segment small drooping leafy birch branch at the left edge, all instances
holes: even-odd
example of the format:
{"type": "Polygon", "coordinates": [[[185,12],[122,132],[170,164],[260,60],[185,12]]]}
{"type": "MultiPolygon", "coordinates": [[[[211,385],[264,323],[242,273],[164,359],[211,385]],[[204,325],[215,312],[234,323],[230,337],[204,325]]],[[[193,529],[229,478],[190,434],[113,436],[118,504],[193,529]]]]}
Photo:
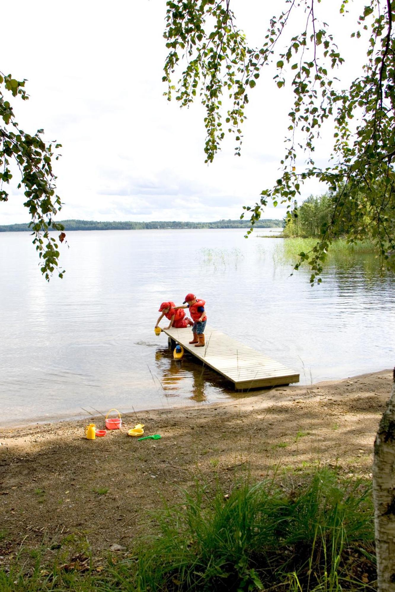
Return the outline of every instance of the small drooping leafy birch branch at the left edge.
{"type": "MultiPolygon", "coordinates": [[[[60,230],[59,240],[65,239],[62,224],[53,220],[62,204],[55,194],[55,175],[52,170],[54,156],[52,144],[42,140],[43,130],[37,130],[34,136],[23,131],[15,121],[14,111],[5,96],[9,93],[13,97],[19,96],[23,101],[28,99],[25,82],[5,76],[0,72],[0,201],[8,201],[9,182],[12,179],[12,165],[20,173],[18,189],[24,187],[26,201],[33,232],[33,244],[40,257],[40,268],[44,277],[49,280],[50,275],[58,267],[59,246],[50,230],[60,230]]],[[[56,144],[55,150],[61,144],[56,144]]],[[[59,156],[55,156],[58,160],[59,156]]],[[[63,271],[59,271],[62,277],[63,271]]]]}

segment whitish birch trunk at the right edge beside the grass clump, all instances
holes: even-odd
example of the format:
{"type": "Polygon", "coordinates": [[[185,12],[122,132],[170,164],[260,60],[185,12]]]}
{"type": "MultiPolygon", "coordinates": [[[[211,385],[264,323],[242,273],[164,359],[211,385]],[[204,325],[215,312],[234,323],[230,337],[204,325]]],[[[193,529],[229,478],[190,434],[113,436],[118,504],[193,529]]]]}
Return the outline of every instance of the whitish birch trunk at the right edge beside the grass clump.
{"type": "Polygon", "coordinates": [[[395,368],[388,407],[374,442],[374,527],[379,592],[395,591],[395,368]]]}

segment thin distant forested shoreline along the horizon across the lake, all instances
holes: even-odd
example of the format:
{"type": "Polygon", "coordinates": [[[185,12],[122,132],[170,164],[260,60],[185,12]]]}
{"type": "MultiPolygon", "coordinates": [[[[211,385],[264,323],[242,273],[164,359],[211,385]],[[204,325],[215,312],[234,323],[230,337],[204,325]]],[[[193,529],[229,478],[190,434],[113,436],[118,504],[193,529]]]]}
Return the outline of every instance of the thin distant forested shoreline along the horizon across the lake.
{"type": "MultiPolygon", "coordinates": [[[[94,220],[61,220],[65,230],[152,230],[196,228],[250,228],[247,220],[217,220],[216,222],[96,222],[94,220]]],[[[282,228],[282,220],[259,220],[255,228],[282,228]]],[[[28,224],[0,225],[0,232],[21,232],[31,229],[28,224]]]]}

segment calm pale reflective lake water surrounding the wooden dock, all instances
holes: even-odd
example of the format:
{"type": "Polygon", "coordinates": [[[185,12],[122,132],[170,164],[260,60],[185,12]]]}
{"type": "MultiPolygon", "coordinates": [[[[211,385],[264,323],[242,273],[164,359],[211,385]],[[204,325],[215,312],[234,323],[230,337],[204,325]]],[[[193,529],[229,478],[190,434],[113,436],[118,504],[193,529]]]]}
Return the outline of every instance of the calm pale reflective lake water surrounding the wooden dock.
{"type": "Polygon", "coordinates": [[[187,292],[206,300],[211,326],[300,372],[301,384],[394,365],[394,276],[380,278],[372,257],[330,265],[311,288],[308,269],[290,276],[283,239],[243,230],[67,239],[66,274],[48,284],[31,236],[0,233],[2,425],[246,396],[189,356],[174,361],[155,336],[160,303],[187,292]]]}

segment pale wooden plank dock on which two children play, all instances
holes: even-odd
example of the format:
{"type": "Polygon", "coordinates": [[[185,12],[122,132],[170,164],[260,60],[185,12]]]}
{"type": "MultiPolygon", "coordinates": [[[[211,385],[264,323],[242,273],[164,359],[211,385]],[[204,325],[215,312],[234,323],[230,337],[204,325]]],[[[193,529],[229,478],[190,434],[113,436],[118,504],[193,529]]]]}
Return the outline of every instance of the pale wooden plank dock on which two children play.
{"type": "Polygon", "coordinates": [[[190,328],[171,327],[163,332],[169,337],[172,348],[179,343],[203,364],[232,382],[236,390],[299,382],[299,374],[293,370],[211,327],[206,326],[204,348],[189,345],[192,340],[190,328]]]}

